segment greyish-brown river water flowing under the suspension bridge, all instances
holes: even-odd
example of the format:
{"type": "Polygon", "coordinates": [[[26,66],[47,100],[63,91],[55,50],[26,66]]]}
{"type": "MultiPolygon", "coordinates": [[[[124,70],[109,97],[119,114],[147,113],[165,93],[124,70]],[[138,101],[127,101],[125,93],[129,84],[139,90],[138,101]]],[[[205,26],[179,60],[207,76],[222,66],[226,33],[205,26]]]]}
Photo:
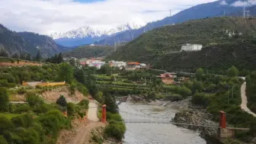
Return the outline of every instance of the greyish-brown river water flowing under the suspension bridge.
{"type": "Polygon", "coordinates": [[[170,107],[122,103],[119,108],[126,122],[163,122],[126,123],[126,133],[123,139],[125,144],[206,144],[199,133],[165,123],[170,121],[176,112],[170,107]],[[165,117],[165,119],[160,117],[165,117]]]}

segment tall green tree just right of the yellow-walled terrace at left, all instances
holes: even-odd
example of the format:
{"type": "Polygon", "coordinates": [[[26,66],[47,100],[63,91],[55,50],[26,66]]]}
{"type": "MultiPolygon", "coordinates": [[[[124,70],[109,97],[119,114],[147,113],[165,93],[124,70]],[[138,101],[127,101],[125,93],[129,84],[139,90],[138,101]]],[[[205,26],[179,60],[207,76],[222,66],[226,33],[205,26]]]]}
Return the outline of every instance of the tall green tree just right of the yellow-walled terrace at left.
{"type": "Polygon", "coordinates": [[[74,70],[69,63],[61,63],[59,69],[59,80],[71,83],[73,80],[74,70]]]}

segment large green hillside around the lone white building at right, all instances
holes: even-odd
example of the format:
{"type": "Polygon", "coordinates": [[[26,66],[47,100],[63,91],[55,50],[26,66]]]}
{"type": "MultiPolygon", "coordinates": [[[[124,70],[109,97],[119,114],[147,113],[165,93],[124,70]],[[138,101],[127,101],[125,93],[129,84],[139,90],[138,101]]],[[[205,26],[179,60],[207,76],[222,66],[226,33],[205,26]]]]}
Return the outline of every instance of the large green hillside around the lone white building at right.
{"type": "MultiPolygon", "coordinates": [[[[254,52],[255,32],[256,20],[251,18],[225,17],[187,21],[183,24],[169,25],[146,32],[136,40],[127,43],[126,46],[122,46],[110,56],[110,59],[136,60],[150,62],[156,68],[181,67],[181,69],[182,67],[194,67],[202,60],[206,61],[205,65],[208,65],[209,60],[213,61],[212,58],[218,59],[219,62],[238,60],[236,57],[240,54],[244,55],[241,59],[245,57],[253,59],[251,52],[254,52]],[[232,33],[234,31],[235,35],[229,37],[226,30],[232,33]],[[242,36],[238,36],[238,33],[242,33],[242,36]],[[181,50],[184,43],[201,43],[204,48],[207,48],[194,53],[170,53],[181,50]],[[216,47],[218,50],[215,49],[216,47]],[[245,47],[246,50],[243,50],[245,47]],[[233,51],[237,53],[232,53],[233,51]],[[219,54],[223,56],[219,57],[219,54]],[[226,54],[230,56],[226,57],[226,54]],[[187,62],[186,66],[183,65],[184,62],[187,62]]],[[[244,66],[244,62],[248,59],[245,59],[239,66],[244,66]]],[[[254,67],[250,69],[252,68],[254,67]]]]}

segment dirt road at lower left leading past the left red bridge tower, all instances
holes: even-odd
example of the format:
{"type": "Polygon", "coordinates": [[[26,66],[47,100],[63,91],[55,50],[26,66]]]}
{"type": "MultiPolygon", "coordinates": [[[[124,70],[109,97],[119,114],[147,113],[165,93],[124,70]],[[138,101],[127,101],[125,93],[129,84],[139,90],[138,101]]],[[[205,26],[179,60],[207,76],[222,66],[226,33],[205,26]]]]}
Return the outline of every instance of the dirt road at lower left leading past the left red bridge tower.
{"type": "Polygon", "coordinates": [[[72,140],[72,142],[70,142],[70,144],[90,143],[89,140],[91,139],[91,130],[104,126],[104,123],[99,122],[97,112],[98,104],[90,101],[88,110],[88,119],[90,120],[90,123],[78,130],[75,138],[72,140]]]}

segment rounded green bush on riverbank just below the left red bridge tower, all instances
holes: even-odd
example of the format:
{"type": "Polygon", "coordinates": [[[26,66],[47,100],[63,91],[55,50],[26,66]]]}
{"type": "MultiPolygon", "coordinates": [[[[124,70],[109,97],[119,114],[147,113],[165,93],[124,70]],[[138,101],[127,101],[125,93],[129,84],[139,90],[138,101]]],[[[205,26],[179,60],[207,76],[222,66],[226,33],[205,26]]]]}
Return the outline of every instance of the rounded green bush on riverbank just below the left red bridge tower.
{"type": "Polygon", "coordinates": [[[124,133],[126,131],[126,126],[123,122],[117,122],[115,120],[110,120],[109,124],[104,129],[104,133],[108,137],[112,137],[117,140],[122,140],[124,133]]]}

